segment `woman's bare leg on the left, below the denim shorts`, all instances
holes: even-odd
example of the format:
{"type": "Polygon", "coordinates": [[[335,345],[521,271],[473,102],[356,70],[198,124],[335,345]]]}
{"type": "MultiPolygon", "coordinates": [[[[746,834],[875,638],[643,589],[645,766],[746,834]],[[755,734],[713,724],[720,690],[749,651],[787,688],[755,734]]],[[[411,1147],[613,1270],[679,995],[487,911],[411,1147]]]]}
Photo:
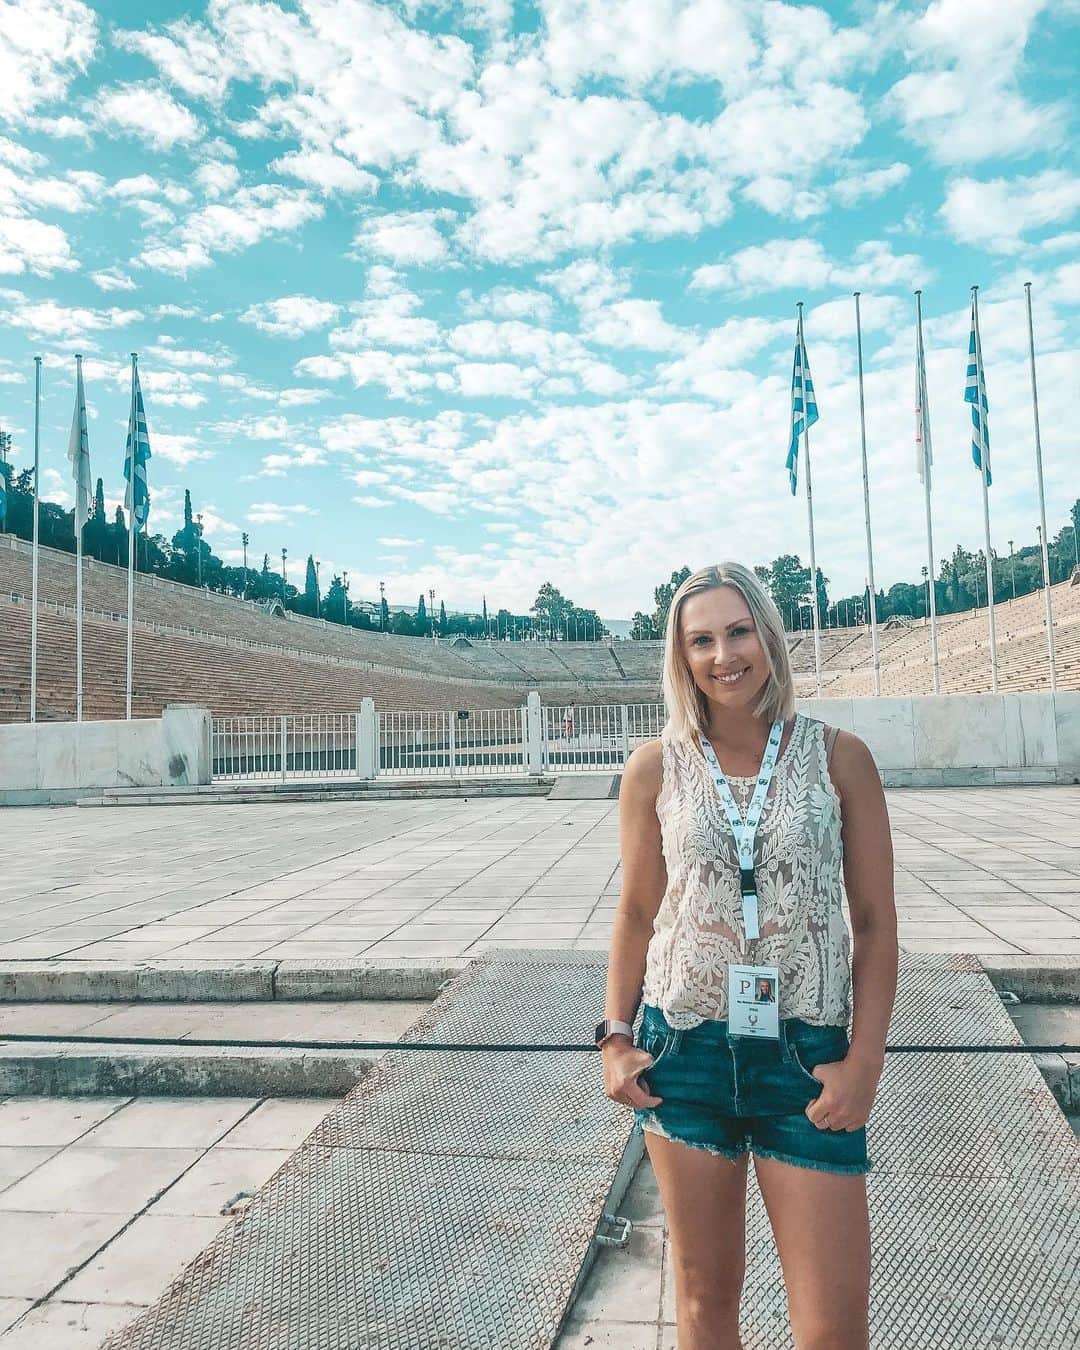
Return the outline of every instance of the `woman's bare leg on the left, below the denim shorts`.
{"type": "Polygon", "coordinates": [[[747,1160],[645,1130],[667,1214],[679,1350],[742,1350],[738,1300],[747,1268],[747,1160]]]}

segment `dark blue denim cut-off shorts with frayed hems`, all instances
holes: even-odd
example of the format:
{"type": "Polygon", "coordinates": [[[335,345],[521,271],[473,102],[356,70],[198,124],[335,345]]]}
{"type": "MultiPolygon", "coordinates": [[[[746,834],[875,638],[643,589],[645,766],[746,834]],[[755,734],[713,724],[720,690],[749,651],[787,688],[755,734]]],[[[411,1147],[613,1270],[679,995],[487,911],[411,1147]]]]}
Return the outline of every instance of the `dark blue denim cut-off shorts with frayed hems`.
{"type": "Polygon", "coordinates": [[[819,1172],[869,1172],[867,1129],[818,1129],[806,1107],[824,1084],[810,1069],[848,1053],[844,1026],[780,1019],[780,1040],[728,1035],[706,1021],[675,1030],[645,1004],[634,1042],[653,1057],[641,1071],[657,1107],[634,1108],[637,1126],[709,1153],[737,1158],[753,1149],[819,1172]]]}

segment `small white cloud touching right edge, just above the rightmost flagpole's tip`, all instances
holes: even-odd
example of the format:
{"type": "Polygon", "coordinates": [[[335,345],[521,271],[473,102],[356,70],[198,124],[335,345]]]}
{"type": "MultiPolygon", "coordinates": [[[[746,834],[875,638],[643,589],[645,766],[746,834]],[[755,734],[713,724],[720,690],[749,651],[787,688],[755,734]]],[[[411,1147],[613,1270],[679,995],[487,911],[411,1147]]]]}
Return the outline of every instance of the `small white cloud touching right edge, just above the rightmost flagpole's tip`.
{"type": "Polygon", "coordinates": [[[1015,252],[1029,230],[1058,224],[1080,211],[1080,177],[1046,169],[1029,178],[956,178],[941,207],[949,232],[961,243],[1015,252]]]}

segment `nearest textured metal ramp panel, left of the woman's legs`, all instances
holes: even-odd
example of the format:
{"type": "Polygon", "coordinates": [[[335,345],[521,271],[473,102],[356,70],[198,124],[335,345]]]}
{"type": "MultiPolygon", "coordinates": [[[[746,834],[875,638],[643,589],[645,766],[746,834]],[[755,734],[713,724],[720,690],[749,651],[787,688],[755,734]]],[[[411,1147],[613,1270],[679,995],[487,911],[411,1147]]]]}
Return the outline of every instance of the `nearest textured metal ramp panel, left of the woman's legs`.
{"type": "Polygon", "coordinates": [[[112,1350],[551,1346],[612,1183],[606,1161],[293,1161],[112,1350]]]}

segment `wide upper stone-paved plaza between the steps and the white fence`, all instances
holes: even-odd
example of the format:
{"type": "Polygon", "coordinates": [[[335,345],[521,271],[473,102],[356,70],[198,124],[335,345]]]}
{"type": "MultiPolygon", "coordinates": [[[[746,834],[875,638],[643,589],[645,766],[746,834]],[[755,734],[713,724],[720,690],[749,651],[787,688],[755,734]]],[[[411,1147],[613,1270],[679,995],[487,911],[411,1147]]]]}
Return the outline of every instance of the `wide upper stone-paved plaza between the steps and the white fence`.
{"type": "MultiPolygon", "coordinates": [[[[1080,954],[1075,787],[888,792],[909,950],[1080,954]]],[[[616,802],[474,798],[3,813],[0,960],[606,949],[616,802]]]]}

